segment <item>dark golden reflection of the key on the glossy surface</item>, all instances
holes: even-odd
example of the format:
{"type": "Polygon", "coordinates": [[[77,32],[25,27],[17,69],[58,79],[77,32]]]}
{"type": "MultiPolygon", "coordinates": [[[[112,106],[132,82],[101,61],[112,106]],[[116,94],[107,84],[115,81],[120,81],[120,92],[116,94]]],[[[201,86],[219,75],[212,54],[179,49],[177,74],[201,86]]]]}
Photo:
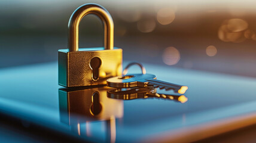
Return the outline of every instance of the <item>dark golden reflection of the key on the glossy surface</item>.
{"type": "Polygon", "coordinates": [[[175,100],[181,103],[187,102],[184,95],[157,94],[156,88],[148,86],[146,88],[117,88],[107,92],[108,98],[119,100],[135,100],[138,98],[163,98],[167,100],[175,100]]]}

